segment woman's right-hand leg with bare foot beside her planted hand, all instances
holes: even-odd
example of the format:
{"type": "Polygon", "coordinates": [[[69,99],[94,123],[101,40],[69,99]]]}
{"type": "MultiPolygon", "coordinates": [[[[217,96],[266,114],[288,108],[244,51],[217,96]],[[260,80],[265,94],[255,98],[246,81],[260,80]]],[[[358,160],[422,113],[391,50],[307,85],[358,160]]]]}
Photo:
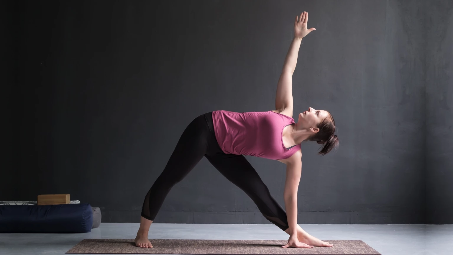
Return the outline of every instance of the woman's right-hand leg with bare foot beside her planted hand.
{"type": "MultiPolygon", "coordinates": [[[[217,153],[205,155],[205,157],[226,179],[250,196],[267,220],[289,234],[286,211],[270,195],[268,187],[243,155],[217,153]]],[[[297,235],[298,240],[307,245],[332,246],[328,242],[309,235],[299,225],[297,235]]]]}

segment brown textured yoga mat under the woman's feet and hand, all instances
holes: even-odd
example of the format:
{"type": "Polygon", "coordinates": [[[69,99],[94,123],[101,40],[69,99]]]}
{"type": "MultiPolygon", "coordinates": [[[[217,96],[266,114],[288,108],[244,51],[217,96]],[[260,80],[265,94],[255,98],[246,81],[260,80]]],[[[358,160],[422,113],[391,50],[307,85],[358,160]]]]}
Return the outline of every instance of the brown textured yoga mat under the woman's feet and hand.
{"type": "Polygon", "coordinates": [[[324,240],[332,247],[282,248],[288,240],[150,239],[153,248],[133,239],[84,239],[66,253],[85,254],[329,254],[381,255],[362,240],[324,240]]]}

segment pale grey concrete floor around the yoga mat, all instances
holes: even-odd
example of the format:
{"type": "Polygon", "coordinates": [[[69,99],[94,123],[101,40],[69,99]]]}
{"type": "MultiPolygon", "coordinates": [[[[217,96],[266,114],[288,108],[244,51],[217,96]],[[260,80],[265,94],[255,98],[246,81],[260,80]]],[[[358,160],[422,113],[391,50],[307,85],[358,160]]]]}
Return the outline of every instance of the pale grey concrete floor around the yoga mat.
{"type": "MultiPolygon", "coordinates": [[[[321,240],[363,240],[382,255],[453,255],[453,225],[300,226],[321,240]]],[[[134,239],[138,223],[102,223],[83,234],[1,234],[1,255],[63,255],[85,238],[134,239]]],[[[271,224],[159,224],[149,239],[281,239],[288,234],[271,224]]],[[[283,249],[283,248],[282,248],[283,249]]]]}

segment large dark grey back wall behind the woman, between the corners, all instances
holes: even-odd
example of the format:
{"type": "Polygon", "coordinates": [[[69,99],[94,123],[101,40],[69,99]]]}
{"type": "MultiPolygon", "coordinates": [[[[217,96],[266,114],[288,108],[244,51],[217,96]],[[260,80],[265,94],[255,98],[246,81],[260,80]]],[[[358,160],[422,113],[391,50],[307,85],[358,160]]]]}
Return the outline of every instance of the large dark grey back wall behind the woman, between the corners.
{"type": "MultiPolygon", "coordinates": [[[[138,222],[193,118],[274,109],[294,17],[307,10],[317,30],[299,51],[294,113],[330,111],[341,145],[325,157],[303,145],[298,223],[424,223],[422,3],[26,2],[15,199],[70,193],[101,207],[104,222],[138,222]]],[[[284,205],[285,165],[247,159],[284,205]]],[[[155,222],[269,223],[204,158],[155,222]]]]}

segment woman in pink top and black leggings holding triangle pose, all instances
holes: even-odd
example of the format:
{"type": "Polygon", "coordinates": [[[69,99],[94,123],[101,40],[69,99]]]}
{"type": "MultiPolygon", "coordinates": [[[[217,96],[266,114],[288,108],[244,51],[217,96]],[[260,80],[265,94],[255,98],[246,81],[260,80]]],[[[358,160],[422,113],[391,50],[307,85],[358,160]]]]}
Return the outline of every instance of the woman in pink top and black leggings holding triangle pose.
{"type": "Polygon", "coordinates": [[[292,118],[292,76],[300,43],[305,35],[315,30],[307,29],[307,21],[307,12],[294,20],[294,39],[278,81],[275,110],[247,113],[213,111],[198,116],[186,127],[164,171],[145,196],[135,245],[153,247],[148,240],[148,231],[165,197],[203,156],[246,192],[270,222],[289,234],[288,243],[283,248],[333,245],[309,235],[297,224],[297,190],[302,171],[300,143],[308,140],[323,144],[318,152],[322,155],[338,146],[338,138],[334,135],[335,122],[329,112],[308,108],[299,113],[297,123],[292,118]],[[286,212],[270,195],[244,155],[275,159],[286,164],[286,212]]]}

